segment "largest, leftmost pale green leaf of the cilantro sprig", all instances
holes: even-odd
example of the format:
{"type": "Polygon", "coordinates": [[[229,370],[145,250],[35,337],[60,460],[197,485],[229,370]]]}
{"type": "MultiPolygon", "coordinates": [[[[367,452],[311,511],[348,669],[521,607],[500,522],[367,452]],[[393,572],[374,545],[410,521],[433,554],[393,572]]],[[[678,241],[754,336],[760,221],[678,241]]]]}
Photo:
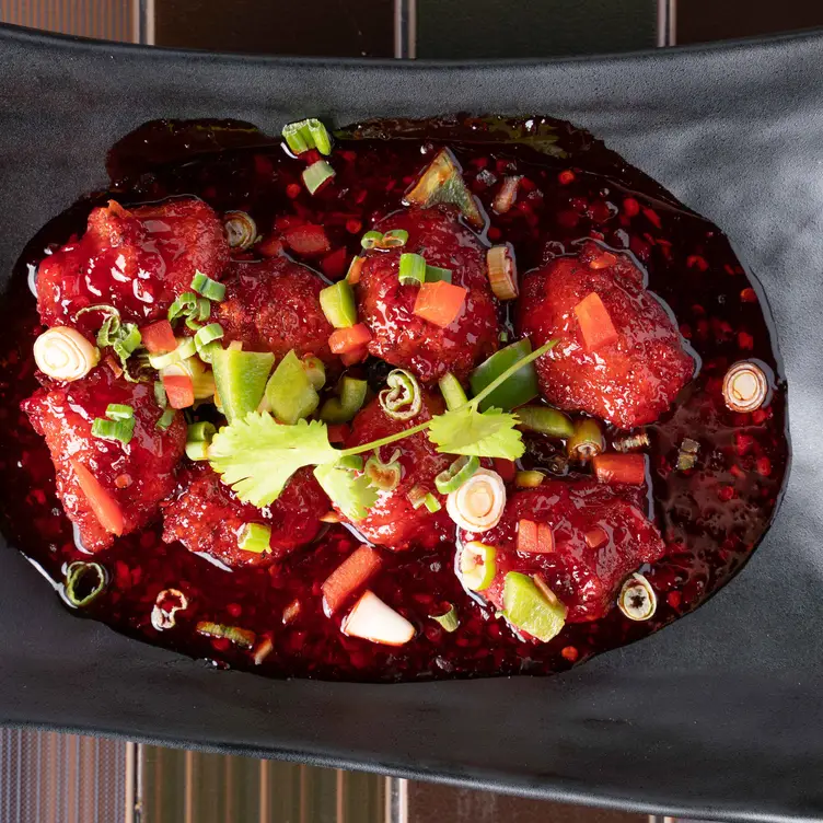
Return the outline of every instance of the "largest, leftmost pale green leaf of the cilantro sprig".
{"type": "Polygon", "coordinates": [[[325,424],[280,426],[258,412],[223,426],[209,447],[211,467],[241,500],[257,508],[277,500],[298,468],[335,460],[336,454],[325,424]]]}

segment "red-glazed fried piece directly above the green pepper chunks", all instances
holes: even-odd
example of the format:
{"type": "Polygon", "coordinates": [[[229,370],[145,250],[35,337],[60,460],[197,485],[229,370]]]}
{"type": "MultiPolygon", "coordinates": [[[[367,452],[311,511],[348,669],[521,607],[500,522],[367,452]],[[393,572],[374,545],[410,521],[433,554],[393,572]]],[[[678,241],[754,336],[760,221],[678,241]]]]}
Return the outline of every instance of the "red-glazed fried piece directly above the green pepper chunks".
{"type": "Polygon", "coordinates": [[[225,281],[225,300],[217,309],[224,340],[240,340],[252,351],[274,351],[279,360],[291,349],[337,363],[328,348],[334,328],[320,308],[326,283],[288,257],[234,263],[225,281]]]}

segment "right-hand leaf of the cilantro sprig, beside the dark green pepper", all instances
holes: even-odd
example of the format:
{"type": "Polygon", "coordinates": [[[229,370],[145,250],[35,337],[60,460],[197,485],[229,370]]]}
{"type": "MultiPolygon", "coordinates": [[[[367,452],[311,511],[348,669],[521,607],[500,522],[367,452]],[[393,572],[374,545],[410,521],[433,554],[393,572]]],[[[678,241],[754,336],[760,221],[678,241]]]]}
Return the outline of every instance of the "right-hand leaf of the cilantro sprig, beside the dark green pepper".
{"type": "Polygon", "coordinates": [[[517,425],[517,415],[499,408],[480,414],[468,404],[432,418],[429,440],[447,454],[517,460],[525,451],[517,425]]]}

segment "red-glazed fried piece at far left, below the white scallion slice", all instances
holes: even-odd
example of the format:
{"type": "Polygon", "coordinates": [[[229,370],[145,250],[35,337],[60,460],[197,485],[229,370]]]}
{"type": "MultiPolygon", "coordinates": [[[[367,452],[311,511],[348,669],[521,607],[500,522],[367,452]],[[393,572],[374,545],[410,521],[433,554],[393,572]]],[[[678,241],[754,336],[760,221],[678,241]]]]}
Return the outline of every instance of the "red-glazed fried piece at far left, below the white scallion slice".
{"type": "Polygon", "coordinates": [[[102,367],[74,383],[37,390],[23,410],[46,439],[57,472],[57,496],[89,552],[108,548],[115,536],[93,513],[70,461],[85,466],[117,502],[124,534],[155,519],[160,501],[175,485],[186,424],[176,415],[166,431],[155,428],[161,409],[151,383],[127,383],[102,367]],[[105,417],[109,403],[135,409],[135,433],[128,444],[92,437],[94,418],[105,417]]]}

